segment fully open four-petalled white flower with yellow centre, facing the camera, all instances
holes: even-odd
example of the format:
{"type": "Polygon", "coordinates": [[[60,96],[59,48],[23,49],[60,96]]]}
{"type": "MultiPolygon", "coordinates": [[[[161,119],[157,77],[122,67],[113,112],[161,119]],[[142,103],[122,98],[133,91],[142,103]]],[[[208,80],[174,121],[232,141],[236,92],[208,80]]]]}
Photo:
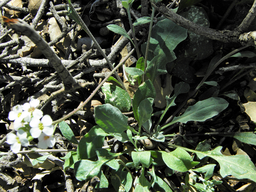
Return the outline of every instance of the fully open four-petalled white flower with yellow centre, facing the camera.
{"type": "Polygon", "coordinates": [[[30,123],[30,134],[33,138],[38,138],[42,132],[47,136],[51,136],[54,132],[54,128],[52,126],[52,118],[50,115],[45,115],[41,120],[38,118],[32,118],[30,123]]]}

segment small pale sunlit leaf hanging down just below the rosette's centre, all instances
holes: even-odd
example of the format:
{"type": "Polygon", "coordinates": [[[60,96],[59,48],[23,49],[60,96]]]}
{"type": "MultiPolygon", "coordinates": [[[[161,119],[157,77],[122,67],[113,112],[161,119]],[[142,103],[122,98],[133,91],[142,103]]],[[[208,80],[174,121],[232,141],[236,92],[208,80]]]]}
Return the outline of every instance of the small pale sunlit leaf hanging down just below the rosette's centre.
{"type": "Polygon", "coordinates": [[[149,168],[152,164],[152,158],[150,158],[150,151],[140,151],[140,152],[132,152],[132,160],[134,162],[134,166],[138,168],[140,164],[149,168]]]}

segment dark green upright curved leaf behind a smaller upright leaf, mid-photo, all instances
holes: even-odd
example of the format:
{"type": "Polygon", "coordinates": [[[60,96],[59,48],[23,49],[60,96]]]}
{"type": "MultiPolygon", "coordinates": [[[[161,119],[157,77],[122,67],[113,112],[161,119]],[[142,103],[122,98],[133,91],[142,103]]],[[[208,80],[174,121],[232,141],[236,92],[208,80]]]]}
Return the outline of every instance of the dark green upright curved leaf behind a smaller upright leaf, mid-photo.
{"type": "MultiPolygon", "coordinates": [[[[156,98],[156,90],[150,80],[143,82],[137,89],[132,100],[134,118],[139,122],[138,107],[140,102],[146,98],[156,98]]],[[[140,122],[139,122],[140,123],[140,122]]]]}

